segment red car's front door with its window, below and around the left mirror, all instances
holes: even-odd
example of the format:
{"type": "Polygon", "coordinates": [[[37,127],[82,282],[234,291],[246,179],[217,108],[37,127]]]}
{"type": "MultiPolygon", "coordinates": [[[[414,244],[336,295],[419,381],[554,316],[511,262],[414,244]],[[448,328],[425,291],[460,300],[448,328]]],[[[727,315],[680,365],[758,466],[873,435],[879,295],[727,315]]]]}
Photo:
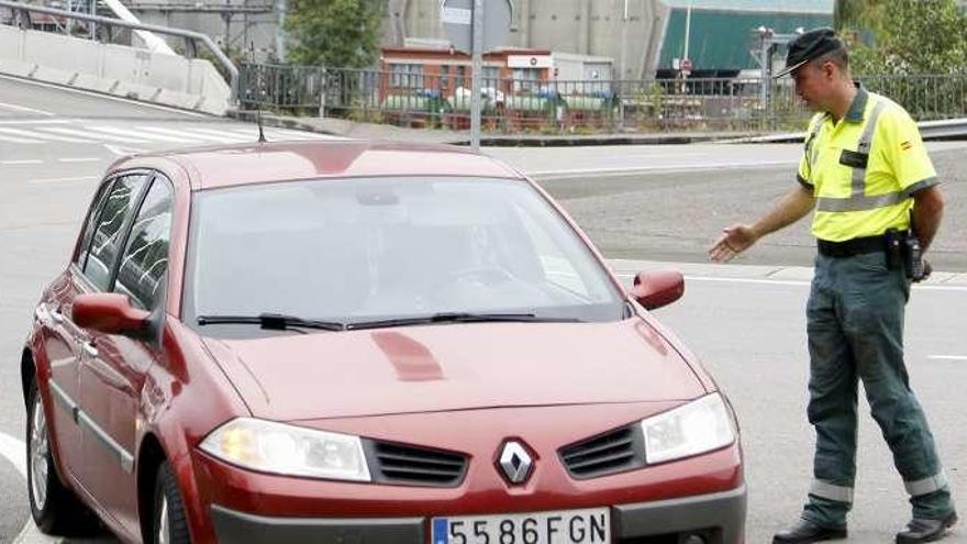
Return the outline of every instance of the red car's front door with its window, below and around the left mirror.
{"type": "MultiPolygon", "coordinates": [[[[109,289],[126,295],[132,307],[148,312],[163,310],[173,201],[170,184],[155,176],[127,232],[118,240],[123,251],[112,268],[109,289]]],[[[152,340],[88,334],[81,355],[81,408],[96,440],[85,442],[85,481],[111,517],[137,534],[133,469],[141,395],[162,351],[152,340]]]]}

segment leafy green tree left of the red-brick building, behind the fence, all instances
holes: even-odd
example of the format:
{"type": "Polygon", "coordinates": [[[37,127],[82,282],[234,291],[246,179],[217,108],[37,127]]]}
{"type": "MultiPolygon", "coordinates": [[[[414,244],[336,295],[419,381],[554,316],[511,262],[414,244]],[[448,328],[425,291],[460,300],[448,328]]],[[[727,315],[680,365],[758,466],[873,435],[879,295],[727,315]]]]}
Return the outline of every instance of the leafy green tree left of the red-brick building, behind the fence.
{"type": "Polygon", "coordinates": [[[289,60],[333,68],[367,68],[379,52],[380,0],[294,0],[286,19],[289,60]]]}

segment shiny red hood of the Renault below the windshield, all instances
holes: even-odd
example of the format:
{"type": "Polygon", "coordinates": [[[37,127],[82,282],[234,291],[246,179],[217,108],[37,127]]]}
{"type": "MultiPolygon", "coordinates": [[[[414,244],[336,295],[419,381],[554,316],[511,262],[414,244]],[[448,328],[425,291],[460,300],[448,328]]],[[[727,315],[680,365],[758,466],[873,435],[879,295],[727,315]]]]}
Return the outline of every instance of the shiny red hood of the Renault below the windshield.
{"type": "Polygon", "coordinates": [[[254,417],[277,421],[692,399],[648,323],[464,323],[203,338],[254,417]]]}

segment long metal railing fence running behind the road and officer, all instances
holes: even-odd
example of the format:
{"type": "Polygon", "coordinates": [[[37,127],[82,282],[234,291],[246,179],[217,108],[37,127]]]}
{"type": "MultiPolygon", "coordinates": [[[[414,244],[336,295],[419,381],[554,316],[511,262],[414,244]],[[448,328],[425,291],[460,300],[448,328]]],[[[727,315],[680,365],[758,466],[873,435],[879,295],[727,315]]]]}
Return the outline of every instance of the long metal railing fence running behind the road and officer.
{"type": "MultiPolygon", "coordinates": [[[[967,77],[863,78],[919,120],[965,116],[967,77]]],[[[338,116],[404,126],[465,130],[470,78],[463,74],[326,69],[246,64],[243,108],[338,116]]],[[[801,130],[807,111],[791,80],[652,79],[482,84],[482,125],[491,133],[771,132],[801,130]]]]}

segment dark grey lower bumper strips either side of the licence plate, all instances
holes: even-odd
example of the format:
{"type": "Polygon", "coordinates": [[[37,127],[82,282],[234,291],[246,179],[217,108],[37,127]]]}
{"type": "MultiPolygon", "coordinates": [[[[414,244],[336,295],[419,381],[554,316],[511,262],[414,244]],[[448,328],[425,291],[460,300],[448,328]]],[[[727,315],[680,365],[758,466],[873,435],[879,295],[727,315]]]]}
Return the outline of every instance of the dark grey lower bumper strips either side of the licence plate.
{"type": "MultiPolygon", "coordinates": [[[[745,486],[718,493],[618,504],[611,507],[612,532],[618,544],[742,544],[745,510],[745,486]],[[688,541],[690,535],[702,540],[688,541]]],[[[218,540],[223,543],[422,544],[427,542],[430,526],[426,518],[276,518],[238,512],[218,504],[212,504],[211,517],[218,540]]]]}

